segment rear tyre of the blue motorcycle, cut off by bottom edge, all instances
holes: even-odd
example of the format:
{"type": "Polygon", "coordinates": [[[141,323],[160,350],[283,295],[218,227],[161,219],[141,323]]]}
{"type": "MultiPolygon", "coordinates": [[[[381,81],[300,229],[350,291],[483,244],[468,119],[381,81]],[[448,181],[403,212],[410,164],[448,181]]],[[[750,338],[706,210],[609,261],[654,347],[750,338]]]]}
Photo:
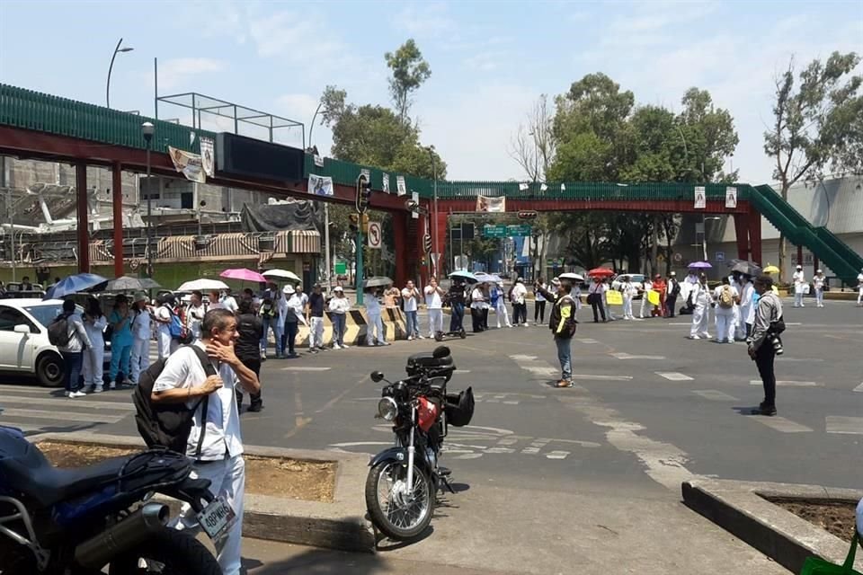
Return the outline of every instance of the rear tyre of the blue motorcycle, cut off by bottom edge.
{"type": "Polygon", "coordinates": [[[165,528],[111,560],[110,575],[222,575],[216,558],[191,534],[165,528]]]}

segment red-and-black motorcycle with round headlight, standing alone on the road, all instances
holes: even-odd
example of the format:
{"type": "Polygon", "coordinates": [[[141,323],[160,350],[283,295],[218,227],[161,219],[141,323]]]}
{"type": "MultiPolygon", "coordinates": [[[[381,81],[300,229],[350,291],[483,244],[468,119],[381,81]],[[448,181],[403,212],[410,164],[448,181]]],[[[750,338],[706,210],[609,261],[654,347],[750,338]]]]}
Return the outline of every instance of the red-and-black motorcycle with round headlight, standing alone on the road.
{"type": "Polygon", "coordinates": [[[366,508],[378,530],[396,541],[421,535],[432,522],[437,492],[449,489],[449,469],[438,464],[440,447],[449,425],[470,423],[474,394],[468,387],[448,394],[447,383],[456,367],[449,348],[420,353],[407,360],[407,377],[392,383],[379,371],[375,383],[384,381],[378,418],[392,421],[395,447],[373,457],[366,478],[366,508]]]}

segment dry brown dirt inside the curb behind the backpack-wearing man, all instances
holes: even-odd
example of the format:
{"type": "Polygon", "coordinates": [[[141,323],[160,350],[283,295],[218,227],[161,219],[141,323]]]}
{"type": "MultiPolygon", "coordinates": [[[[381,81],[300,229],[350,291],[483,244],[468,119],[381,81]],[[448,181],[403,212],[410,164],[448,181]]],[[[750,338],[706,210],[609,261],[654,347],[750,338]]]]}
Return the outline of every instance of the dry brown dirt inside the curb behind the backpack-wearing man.
{"type": "MultiPolygon", "coordinates": [[[[129,456],[140,449],[97,444],[40,441],[37,444],[58,467],[85,467],[110,457],[129,456]]],[[[245,491],[292,500],[333,501],[335,462],[245,456],[245,491]]]]}

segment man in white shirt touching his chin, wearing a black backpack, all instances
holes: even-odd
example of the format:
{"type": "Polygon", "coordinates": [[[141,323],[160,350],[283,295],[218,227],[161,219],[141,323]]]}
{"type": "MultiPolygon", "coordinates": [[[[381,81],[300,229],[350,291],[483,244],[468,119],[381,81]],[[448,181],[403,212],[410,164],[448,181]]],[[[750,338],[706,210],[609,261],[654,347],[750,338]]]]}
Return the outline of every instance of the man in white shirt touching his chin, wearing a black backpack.
{"type": "MultiPolygon", "coordinates": [[[[245,367],[234,353],[238,337],[234,314],[210,310],[201,324],[201,336],[192,345],[207,351],[217,375],[207,376],[195,350],[183,347],[165,362],[165,369],[153,385],[151,399],[156,404],[185,403],[195,409],[186,455],[195,459],[192,474],[209,479],[210,491],[225,498],[236,513],[236,522],[219,545],[217,559],[224,575],[239,575],[245,461],[235,390],[239,386],[249,394],[260,393],[261,384],[254,371],[245,367]]],[[[175,527],[195,526],[195,513],[184,504],[175,527]]]]}

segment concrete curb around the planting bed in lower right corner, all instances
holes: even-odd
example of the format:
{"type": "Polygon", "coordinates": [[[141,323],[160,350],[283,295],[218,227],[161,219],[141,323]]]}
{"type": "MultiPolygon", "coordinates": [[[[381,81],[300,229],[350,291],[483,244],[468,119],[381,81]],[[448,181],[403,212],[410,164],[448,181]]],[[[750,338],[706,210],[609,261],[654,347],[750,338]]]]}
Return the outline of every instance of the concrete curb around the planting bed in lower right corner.
{"type": "MultiPolygon", "coordinates": [[[[841,565],[849,544],[765,497],[849,501],[863,491],[792,483],[690,480],[682,484],[683,502],[736,535],[786,569],[799,573],[807,557],[817,555],[841,565]]],[[[858,553],[859,555],[859,553],[858,553]]],[[[863,570],[863,557],[854,563],[863,570]]]]}

